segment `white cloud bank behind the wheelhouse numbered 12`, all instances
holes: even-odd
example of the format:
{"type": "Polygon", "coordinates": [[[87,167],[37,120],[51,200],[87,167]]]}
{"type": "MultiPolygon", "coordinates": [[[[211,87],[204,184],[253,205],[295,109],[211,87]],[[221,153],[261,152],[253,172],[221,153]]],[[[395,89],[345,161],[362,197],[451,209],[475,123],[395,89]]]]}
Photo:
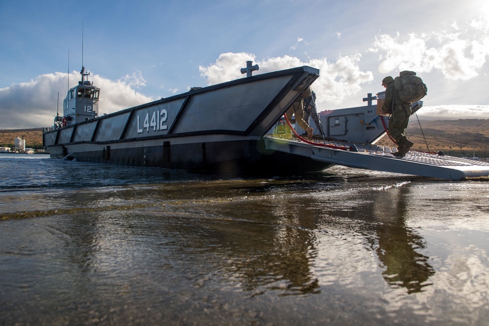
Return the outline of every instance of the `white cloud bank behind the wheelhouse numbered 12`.
{"type": "MultiPolygon", "coordinates": [[[[69,75],[70,86],[79,80],[79,73],[69,75]]],[[[90,76],[96,87],[101,88],[99,113],[111,113],[152,101],[133,87],[144,86],[140,72],[126,75],[117,81],[99,75],[90,76]]],[[[59,108],[67,93],[67,73],[55,72],[36,77],[27,83],[0,88],[0,129],[38,128],[53,124],[59,91],[59,108]]]]}

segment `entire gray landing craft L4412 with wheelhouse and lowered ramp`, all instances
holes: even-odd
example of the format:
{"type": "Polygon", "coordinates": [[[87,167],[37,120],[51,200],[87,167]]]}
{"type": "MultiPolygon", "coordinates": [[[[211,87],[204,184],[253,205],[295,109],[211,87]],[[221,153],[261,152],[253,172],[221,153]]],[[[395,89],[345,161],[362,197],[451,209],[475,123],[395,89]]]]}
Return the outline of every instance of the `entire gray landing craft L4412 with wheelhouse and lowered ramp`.
{"type": "Polygon", "coordinates": [[[274,134],[284,112],[319,77],[308,66],[248,73],[103,116],[100,89],[86,80],[84,68],[81,74],[68,91],[63,116],[44,130],[51,157],[69,153],[79,161],[255,174],[294,175],[340,164],[447,179],[489,175],[489,163],[418,152],[399,159],[391,148],[373,145],[385,135],[387,118],[378,115],[370,96],[367,106],[320,113],[328,141],[274,134]]]}

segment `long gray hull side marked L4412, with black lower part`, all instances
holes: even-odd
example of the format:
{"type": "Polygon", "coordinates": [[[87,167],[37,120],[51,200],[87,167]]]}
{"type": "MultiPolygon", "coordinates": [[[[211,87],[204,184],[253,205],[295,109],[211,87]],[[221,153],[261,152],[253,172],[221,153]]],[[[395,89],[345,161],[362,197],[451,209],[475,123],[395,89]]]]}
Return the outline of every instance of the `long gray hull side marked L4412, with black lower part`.
{"type": "Polygon", "coordinates": [[[266,150],[262,137],[319,76],[248,77],[45,131],[53,158],[168,169],[297,174],[331,164],[266,150]]]}

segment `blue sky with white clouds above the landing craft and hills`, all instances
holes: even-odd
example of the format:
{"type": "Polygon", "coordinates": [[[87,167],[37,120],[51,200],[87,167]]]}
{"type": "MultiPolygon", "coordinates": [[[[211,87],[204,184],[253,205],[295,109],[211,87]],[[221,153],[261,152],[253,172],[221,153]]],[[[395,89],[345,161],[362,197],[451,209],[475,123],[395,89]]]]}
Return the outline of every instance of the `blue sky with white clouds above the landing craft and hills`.
{"type": "Polygon", "coordinates": [[[487,2],[0,0],[0,129],[52,126],[82,65],[102,115],[245,78],[248,60],[254,75],[318,68],[318,111],[413,70],[420,119],[489,119],[487,2]]]}

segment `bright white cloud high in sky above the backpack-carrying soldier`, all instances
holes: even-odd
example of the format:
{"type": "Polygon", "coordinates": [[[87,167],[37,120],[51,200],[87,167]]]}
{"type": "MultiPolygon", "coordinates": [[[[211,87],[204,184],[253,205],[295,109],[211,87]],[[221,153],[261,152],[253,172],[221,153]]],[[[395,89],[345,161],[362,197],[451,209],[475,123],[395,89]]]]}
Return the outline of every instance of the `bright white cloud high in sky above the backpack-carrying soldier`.
{"type": "Polygon", "coordinates": [[[395,37],[378,35],[368,51],[379,53],[379,71],[441,71],[452,80],[469,80],[479,75],[489,55],[489,19],[481,15],[467,27],[457,22],[451,31],[409,34],[395,37]]]}

